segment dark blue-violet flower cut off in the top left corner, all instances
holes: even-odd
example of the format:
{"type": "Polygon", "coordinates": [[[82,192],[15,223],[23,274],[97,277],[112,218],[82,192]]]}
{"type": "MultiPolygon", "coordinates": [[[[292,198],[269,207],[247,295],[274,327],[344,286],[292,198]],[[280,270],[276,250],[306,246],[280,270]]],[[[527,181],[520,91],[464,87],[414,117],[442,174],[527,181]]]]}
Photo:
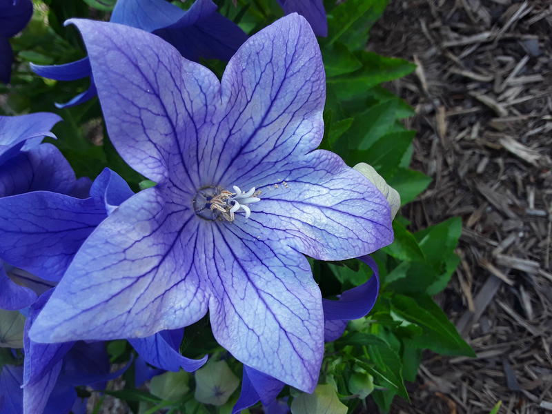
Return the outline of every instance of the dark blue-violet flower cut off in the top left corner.
{"type": "Polygon", "coordinates": [[[12,75],[13,52],[10,37],[21,32],[32,17],[31,0],[0,0],[0,81],[12,75]]]}

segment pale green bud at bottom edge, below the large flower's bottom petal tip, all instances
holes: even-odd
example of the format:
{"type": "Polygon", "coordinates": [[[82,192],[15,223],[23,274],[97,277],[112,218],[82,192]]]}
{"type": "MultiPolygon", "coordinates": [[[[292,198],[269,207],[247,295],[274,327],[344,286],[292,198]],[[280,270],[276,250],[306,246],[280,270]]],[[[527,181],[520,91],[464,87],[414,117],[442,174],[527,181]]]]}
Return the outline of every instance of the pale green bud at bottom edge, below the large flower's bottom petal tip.
{"type": "Polygon", "coordinates": [[[347,406],[337,398],[330,384],[318,385],[313,394],[301,394],[291,403],[292,414],[347,414],[347,406]]]}

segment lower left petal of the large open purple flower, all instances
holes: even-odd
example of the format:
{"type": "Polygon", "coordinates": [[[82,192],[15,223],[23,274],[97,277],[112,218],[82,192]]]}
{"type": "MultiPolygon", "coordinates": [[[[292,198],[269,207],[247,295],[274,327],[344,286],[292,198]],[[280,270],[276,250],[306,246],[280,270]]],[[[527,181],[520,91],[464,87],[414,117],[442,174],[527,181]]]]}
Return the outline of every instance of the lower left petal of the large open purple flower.
{"type": "Polygon", "coordinates": [[[34,340],[146,337],[205,315],[197,219],[164,197],[159,186],[141,191],[96,228],[33,324],[34,340]]]}

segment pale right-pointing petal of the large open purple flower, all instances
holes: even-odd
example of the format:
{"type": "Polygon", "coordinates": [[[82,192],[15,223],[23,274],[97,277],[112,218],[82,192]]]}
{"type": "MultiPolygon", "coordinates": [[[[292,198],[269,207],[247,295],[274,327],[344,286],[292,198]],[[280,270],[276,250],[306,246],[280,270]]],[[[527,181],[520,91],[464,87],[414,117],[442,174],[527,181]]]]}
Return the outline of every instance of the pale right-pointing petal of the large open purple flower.
{"type": "Polygon", "coordinates": [[[332,152],[316,150],[245,181],[253,182],[263,184],[261,201],[251,204],[244,226],[261,236],[278,232],[315,259],[351,259],[393,241],[385,197],[332,152]]]}

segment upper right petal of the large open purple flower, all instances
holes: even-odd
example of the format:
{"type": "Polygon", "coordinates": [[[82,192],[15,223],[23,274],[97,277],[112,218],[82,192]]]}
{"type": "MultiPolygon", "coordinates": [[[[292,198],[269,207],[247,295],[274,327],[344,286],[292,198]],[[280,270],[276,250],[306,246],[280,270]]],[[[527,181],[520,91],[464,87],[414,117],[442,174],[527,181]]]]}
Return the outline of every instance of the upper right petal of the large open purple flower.
{"type": "Polygon", "coordinates": [[[201,177],[224,187],[262,174],[322,139],[324,65],[311,26],[290,14],[253,35],[230,59],[221,81],[218,129],[201,153],[201,177]]]}

